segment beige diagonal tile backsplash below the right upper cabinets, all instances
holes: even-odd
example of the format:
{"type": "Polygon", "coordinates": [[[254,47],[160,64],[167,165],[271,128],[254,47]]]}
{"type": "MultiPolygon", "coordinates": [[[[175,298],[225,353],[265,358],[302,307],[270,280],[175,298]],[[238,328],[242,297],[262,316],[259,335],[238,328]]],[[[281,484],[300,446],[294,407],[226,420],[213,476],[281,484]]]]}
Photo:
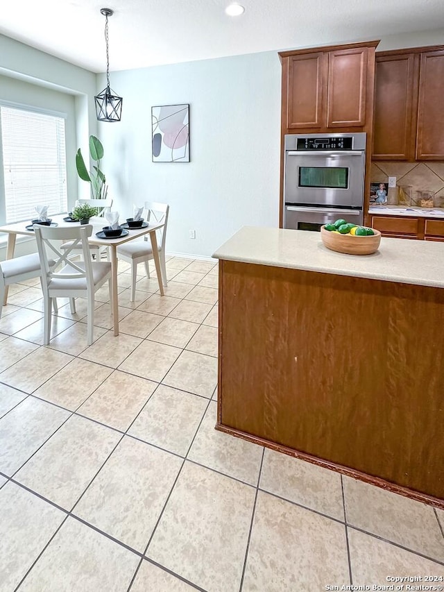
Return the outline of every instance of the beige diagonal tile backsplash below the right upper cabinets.
{"type": "Polygon", "coordinates": [[[396,187],[388,189],[391,205],[425,205],[444,208],[444,162],[372,162],[370,183],[386,183],[396,177],[396,187]],[[433,203],[432,203],[433,201],[433,203]]]}

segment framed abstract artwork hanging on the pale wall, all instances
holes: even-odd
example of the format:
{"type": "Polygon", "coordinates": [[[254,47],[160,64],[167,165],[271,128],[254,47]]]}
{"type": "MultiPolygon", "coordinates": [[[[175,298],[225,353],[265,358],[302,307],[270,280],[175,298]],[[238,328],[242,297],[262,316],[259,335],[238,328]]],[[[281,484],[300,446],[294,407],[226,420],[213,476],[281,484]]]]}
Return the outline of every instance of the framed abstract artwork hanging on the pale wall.
{"type": "Polygon", "coordinates": [[[151,107],[153,162],[189,162],[189,105],[151,107]]]}

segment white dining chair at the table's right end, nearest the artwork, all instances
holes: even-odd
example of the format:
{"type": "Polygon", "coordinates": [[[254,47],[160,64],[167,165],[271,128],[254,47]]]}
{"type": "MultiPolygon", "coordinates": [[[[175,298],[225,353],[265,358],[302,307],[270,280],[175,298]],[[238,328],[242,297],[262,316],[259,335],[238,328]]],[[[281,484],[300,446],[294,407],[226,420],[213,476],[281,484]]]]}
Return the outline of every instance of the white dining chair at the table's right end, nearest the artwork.
{"type": "MultiPolygon", "coordinates": [[[[160,269],[162,271],[162,284],[167,287],[167,267],[165,265],[165,241],[167,239],[169,205],[167,203],[149,202],[144,205],[144,219],[148,223],[163,222],[163,225],[156,231],[157,250],[159,251],[160,269]]],[[[135,300],[137,265],[145,264],[146,277],[150,277],[148,262],[154,258],[153,248],[149,237],[141,241],[128,241],[117,247],[117,257],[131,264],[131,296],[130,301],[135,300]]]]}

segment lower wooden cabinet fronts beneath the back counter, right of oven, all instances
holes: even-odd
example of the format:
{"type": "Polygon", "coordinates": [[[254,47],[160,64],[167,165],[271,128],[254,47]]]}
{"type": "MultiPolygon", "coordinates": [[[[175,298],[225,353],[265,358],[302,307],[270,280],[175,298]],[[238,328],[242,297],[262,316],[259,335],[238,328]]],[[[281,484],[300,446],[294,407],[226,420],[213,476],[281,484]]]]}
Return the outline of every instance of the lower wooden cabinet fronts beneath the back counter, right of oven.
{"type": "Polygon", "coordinates": [[[372,216],[371,227],[383,237],[444,241],[444,220],[405,216],[372,216]]]}

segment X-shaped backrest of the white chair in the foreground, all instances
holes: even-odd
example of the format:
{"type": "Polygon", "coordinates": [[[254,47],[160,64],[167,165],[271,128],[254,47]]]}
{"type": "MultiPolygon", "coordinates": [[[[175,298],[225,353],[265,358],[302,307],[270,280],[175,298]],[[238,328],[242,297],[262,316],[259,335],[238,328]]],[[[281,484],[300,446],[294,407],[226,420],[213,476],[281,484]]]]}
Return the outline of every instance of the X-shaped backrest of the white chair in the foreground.
{"type": "Polygon", "coordinates": [[[87,284],[92,285],[92,262],[89,256],[88,237],[92,235],[92,226],[53,228],[52,226],[34,225],[35,239],[37,240],[37,251],[42,267],[42,285],[48,289],[49,282],[53,279],[81,279],[86,278],[87,284]],[[60,248],[60,241],[72,241],[68,248],[60,248]],[[82,248],[83,262],[79,267],[69,259],[69,255],[78,255],[75,249],[82,248]],[[50,265],[48,253],[51,253],[53,265],[50,265]],[[54,263],[55,262],[55,263],[54,263]],[[60,273],[60,266],[69,266],[64,273],[60,273]]]}

